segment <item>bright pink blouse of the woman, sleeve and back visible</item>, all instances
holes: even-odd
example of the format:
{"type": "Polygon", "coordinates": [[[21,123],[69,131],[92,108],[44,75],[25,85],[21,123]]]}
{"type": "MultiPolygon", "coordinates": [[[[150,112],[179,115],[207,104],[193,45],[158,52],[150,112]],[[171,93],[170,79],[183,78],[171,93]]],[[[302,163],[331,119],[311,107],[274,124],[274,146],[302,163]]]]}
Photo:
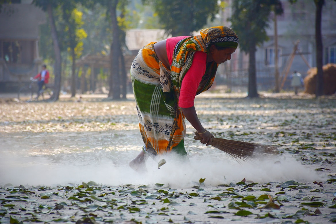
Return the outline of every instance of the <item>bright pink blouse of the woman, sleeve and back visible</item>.
{"type": "MultiPolygon", "coordinates": [[[[172,37],[166,41],[166,50],[171,65],[173,61],[173,52],[176,44],[187,38],[188,36],[172,37]]],[[[193,59],[193,63],[185,74],[180,90],[178,105],[182,108],[188,108],[194,106],[194,100],[197,92],[197,88],[205,74],[207,54],[202,51],[196,51],[193,59]]]]}

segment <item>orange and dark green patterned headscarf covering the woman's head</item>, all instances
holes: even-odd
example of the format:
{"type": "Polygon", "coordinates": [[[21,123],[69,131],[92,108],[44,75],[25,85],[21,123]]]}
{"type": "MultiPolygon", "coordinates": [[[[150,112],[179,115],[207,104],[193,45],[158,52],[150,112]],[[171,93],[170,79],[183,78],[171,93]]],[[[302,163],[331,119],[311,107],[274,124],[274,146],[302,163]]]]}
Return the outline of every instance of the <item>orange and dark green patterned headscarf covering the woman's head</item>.
{"type": "Polygon", "coordinates": [[[223,26],[203,29],[201,30],[201,36],[207,50],[211,43],[218,47],[233,48],[237,48],[239,43],[237,34],[231,28],[223,26]]]}

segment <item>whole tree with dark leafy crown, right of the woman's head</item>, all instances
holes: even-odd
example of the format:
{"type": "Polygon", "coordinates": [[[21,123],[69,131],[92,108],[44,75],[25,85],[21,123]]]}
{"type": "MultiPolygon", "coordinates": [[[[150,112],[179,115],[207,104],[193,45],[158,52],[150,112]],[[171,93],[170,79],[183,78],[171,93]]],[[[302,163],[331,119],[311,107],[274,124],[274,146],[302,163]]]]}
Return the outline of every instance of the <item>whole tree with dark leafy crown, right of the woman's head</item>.
{"type": "Polygon", "coordinates": [[[229,19],[232,29],[239,37],[239,47],[249,53],[249,98],[258,97],[256,81],[256,47],[268,40],[266,28],[269,27],[269,15],[274,7],[275,14],[283,13],[280,0],[235,0],[233,14],[229,19]]]}

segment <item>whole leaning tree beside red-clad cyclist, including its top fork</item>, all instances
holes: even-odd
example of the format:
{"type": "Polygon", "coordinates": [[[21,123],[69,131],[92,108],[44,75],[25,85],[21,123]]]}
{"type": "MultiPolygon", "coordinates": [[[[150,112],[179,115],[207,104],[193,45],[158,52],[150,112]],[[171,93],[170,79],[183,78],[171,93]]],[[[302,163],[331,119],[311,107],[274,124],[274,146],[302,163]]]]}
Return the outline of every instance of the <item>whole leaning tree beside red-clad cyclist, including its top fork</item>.
{"type": "Polygon", "coordinates": [[[55,19],[53,15],[54,8],[60,6],[59,0],[34,0],[33,3],[41,7],[43,11],[48,13],[49,23],[51,28],[51,38],[53,42],[53,48],[55,53],[55,65],[54,65],[54,75],[55,75],[55,83],[54,83],[54,93],[51,96],[52,100],[59,99],[59,93],[61,89],[61,50],[59,45],[58,34],[55,25],[55,19]]]}

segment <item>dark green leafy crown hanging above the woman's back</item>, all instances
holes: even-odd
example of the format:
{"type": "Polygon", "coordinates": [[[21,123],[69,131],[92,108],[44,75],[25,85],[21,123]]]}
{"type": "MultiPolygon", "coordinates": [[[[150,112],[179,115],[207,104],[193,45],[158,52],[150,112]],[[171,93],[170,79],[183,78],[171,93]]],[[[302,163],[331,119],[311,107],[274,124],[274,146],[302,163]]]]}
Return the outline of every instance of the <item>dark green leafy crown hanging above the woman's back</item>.
{"type": "Polygon", "coordinates": [[[167,34],[188,36],[206,25],[218,13],[217,0],[142,0],[152,4],[167,34]]]}

